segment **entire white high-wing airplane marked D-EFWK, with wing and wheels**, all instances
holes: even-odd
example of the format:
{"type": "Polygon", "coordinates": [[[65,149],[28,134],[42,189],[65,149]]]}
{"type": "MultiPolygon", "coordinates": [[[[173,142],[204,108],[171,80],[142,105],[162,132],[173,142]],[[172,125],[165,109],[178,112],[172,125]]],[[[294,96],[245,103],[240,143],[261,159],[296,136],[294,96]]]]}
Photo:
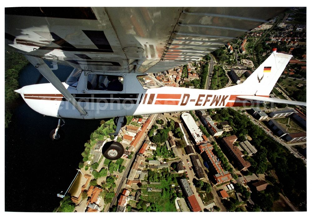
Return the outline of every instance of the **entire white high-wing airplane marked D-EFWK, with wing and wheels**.
{"type": "MultiPolygon", "coordinates": [[[[51,132],[59,138],[61,119],[115,117],[251,105],[303,102],[270,98],[291,55],[272,54],[242,84],[220,90],[163,86],[149,73],[172,69],[209,54],[266,22],[283,8],[6,8],[7,49],[22,53],[48,84],[16,92],[35,111],[59,118],[51,132]],[[62,83],[43,59],[75,69],[62,83]]],[[[103,155],[123,155],[115,141],[103,155]]]]}

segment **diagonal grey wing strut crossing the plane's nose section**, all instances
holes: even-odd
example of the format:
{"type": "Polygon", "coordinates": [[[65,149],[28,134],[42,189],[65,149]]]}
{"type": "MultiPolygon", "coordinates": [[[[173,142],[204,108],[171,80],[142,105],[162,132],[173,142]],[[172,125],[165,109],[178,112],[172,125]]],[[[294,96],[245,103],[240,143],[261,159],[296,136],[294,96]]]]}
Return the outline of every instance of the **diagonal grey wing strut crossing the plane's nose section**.
{"type": "Polygon", "coordinates": [[[62,82],[55,76],[49,66],[42,60],[42,58],[25,55],[27,60],[35,66],[38,71],[58,90],[61,94],[70,102],[81,115],[86,115],[85,110],[78,104],[75,98],[71,95],[69,91],[65,88],[62,82]]]}

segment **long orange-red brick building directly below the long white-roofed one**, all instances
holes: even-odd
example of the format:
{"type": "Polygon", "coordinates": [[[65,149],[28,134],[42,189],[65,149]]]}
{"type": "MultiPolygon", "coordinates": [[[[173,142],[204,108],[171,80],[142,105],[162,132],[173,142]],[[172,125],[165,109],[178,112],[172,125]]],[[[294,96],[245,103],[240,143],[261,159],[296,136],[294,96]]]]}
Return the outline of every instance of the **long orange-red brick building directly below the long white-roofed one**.
{"type": "Polygon", "coordinates": [[[224,183],[232,179],[229,171],[224,171],[217,156],[212,153],[213,146],[210,143],[201,144],[198,146],[202,158],[209,166],[209,172],[214,173],[215,184],[224,183]]]}

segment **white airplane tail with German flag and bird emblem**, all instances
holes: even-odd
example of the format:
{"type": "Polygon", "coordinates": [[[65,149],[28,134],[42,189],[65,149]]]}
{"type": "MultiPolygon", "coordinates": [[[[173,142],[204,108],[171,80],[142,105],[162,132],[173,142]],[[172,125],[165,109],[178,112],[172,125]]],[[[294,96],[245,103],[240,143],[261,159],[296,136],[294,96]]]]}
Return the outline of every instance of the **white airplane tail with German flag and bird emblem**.
{"type": "Polygon", "coordinates": [[[242,84],[221,90],[231,92],[239,99],[306,105],[304,102],[269,98],[291,57],[292,55],[277,53],[273,49],[272,54],[242,84]]]}

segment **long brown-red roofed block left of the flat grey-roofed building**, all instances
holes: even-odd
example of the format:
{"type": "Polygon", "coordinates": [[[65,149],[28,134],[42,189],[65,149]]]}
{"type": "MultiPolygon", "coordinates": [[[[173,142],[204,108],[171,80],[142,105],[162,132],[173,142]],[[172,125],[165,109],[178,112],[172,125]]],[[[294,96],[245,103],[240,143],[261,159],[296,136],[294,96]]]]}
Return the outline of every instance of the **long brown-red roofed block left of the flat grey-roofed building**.
{"type": "Polygon", "coordinates": [[[244,160],[242,152],[237,146],[233,145],[236,140],[236,135],[222,138],[223,151],[227,154],[228,158],[232,158],[239,170],[246,170],[251,164],[244,160]]]}

